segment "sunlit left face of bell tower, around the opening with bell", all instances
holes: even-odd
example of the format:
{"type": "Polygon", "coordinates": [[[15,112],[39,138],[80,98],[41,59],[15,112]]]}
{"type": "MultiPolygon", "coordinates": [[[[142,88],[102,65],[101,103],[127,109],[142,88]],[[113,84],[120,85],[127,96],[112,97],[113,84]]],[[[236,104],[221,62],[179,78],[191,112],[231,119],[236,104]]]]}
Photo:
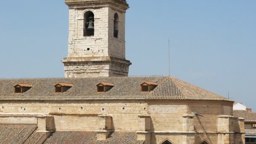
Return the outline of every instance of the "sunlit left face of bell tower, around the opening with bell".
{"type": "Polygon", "coordinates": [[[108,9],[69,9],[68,57],[108,56],[108,9]],[[94,36],[83,36],[86,11],[94,13],[94,36]]]}

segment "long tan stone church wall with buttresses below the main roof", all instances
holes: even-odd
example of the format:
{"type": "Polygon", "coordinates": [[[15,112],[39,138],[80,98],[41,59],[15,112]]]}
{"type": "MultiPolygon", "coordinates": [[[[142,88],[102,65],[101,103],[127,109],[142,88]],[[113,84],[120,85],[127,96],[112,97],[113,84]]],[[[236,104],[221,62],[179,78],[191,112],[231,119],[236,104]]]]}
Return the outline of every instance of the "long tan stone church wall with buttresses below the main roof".
{"type": "Polygon", "coordinates": [[[99,139],[106,139],[111,131],[135,131],[137,139],[144,140],[144,144],[161,144],[165,140],[173,144],[200,144],[202,141],[244,144],[243,119],[232,116],[232,102],[10,101],[1,103],[0,107],[4,107],[0,114],[9,115],[0,117],[2,124],[37,124],[38,131],[45,133],[56,130],[98,131],[99,139]],[[18,117],[17,114],[45,115],[46,120],[42,116],[18,117]]]}

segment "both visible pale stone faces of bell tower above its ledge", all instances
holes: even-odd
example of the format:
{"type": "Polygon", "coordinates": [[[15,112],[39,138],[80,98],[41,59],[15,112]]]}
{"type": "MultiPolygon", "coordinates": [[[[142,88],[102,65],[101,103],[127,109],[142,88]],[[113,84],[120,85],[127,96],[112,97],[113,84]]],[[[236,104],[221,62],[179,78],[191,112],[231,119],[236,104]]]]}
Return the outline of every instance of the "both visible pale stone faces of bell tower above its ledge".
{"type": "Polygon", "coordinates": [[[112,56],[125,59],[125,13],[108,7],[69,9],[68,43],[68,57],[112,56]],[[94,36],[83,36],[86,11],[94,13],[94,36]],[[117,38],[113,34],[115,13],[119,17],[117,38]]]}

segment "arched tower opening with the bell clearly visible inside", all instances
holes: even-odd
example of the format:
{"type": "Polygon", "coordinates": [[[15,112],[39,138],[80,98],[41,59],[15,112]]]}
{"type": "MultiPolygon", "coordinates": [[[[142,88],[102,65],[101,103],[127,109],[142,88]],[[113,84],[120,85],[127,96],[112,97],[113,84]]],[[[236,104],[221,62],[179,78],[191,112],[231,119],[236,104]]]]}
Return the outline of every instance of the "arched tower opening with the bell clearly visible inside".
{"type": "Polygon", "coordinates": [[[91,11],[85,12],[84,15],[84,36],[93,36],[94,35],[94,14],[91,11]]]}

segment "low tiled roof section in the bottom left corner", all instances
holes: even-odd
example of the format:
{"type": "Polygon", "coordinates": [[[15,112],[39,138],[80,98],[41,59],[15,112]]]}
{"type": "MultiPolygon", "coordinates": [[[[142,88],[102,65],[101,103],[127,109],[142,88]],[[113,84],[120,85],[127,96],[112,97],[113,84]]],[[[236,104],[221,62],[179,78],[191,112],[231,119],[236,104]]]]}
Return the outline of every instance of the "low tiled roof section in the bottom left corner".
{"type": "Polygon", "coordinates": [[[0,144],[23,144],[37,125],[0,125],[0,144]]]}

